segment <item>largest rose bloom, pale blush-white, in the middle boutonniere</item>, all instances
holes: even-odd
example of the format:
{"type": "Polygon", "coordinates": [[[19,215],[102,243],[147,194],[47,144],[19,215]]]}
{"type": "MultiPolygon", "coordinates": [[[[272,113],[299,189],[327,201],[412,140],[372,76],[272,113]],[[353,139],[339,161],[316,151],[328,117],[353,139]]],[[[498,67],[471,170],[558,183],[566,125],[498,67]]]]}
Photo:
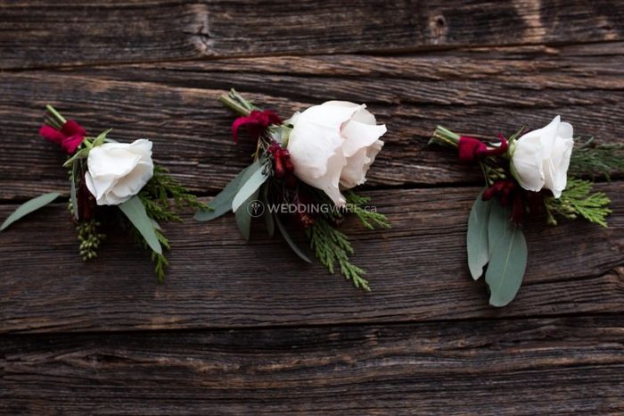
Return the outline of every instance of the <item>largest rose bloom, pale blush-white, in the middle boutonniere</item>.
{"type": "Polygon", "coordinates": [[[296,114],[288,139],[295,175],[322,189],[334,204],[345,204],[342,189],[361,185],[366,171],[382,150],[379,137],[385,125],[376,125],[365,104],[328,101],[296,114]]]}

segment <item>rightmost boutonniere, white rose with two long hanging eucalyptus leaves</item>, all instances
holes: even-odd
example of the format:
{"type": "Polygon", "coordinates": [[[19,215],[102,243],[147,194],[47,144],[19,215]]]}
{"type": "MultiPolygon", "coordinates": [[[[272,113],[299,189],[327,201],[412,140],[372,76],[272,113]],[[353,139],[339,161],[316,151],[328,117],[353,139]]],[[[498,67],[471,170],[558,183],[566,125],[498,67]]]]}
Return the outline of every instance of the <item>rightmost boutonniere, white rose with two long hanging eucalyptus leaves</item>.
{"type": "Polygon", "coordinates": [[[460,136],[438,126],[430,143],[458,149],[462,162],[480,165],[485,188],[472,205],[466,245],[472,279],[485,269],[489,304],[509,304],[521,287],[527,265],[522,224],[527,216],[546,214],[547,223],[583,218],[607,227],[610,200],[593,192],[593,183],[575,174],[624,168],[620,146],[575,146],[570,123],[556,116],[546,127],[521,129],[495,142],[460,136]],[[487,267],[487,268],[486,268],[487,267]]]}

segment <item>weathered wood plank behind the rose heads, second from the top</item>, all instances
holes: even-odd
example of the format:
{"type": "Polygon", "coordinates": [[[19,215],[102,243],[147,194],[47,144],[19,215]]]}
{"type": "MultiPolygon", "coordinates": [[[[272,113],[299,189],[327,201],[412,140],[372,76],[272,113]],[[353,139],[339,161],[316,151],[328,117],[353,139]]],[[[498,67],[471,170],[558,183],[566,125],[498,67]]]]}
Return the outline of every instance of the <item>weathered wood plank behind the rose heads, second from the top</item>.
{"type": "Polygon", "coordinates": [[[93,133],[114,127],[123,140],[149,137],[156,158],[193,190],[214,194],[249,161],[234,145],[232,115],[216,98],[238,87],[288,116],[326,99],[367,102],[388,124],[370,171],[373,187],[478,183],[480,172],[447,149],[427,146],[435,125],[495,136],[554,114],[578,134],[622,142],[624,44],[561,50],[496,50],[410,57],[309,56],[159,63],[78,71],[0,74],[0,198],[63,191],[63,155],[37,137],[53,103],[93,133]],[[613,54],[613,50],[610,52],[613,54]],[[588,59],[588,54],[595,54],[588,59]]]}

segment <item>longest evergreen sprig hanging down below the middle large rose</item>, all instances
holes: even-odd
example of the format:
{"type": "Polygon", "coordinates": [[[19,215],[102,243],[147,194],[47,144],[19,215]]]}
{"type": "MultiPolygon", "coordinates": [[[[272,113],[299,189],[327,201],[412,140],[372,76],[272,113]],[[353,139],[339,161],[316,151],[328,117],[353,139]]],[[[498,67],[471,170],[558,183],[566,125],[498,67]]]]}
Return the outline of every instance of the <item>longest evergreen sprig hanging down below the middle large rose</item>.
{"type": "Polygon", "coordinates": [[[366,273],[365,270],[349,262],[349,255],[353,254],[349,237],[334,228],[324,217],[317,218],[314,224],[306,229],[306,235],[316,258],[330,273],[333,274],[334,266],[338,262],[345,279],[351,280],[355,287],[371,290],[368,281],[362,277],[366,273]]]}

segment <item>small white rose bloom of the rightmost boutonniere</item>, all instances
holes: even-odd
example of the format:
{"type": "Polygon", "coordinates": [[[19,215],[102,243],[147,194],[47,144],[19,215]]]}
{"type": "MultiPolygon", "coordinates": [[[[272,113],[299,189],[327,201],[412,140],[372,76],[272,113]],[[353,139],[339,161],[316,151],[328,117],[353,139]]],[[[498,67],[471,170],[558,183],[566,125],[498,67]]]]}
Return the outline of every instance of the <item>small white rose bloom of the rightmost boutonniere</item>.
{"type": "Polygon", "coordinates": [[[556,116],[546,127],[530,131],[513,144],[512,169],[521,187],[538,192],[550,189],[562,195],[568,179],[573,129],[556,116]]]}

